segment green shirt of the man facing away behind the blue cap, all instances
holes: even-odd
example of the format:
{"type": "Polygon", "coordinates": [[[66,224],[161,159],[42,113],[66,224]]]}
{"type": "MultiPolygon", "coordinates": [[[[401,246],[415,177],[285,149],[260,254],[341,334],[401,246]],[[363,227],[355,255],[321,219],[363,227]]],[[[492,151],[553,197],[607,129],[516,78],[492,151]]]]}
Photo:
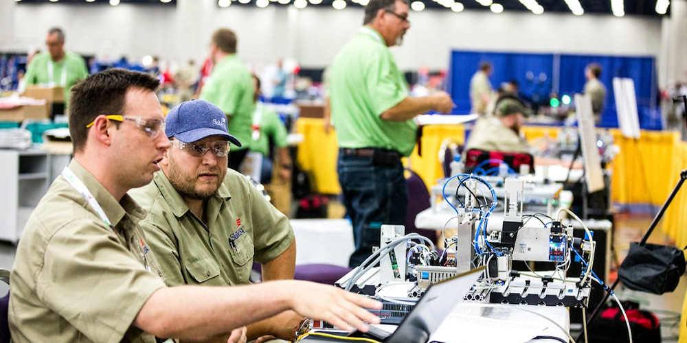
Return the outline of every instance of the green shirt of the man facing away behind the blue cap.
{"type": "Polygon", "coordinates": [[[247,149],[253,118],[253,78],[236,54],[215,64],[199,99],[211,102],[229,117],[229,134],[243,144],[233,146],[232,150],[247,149]]]}

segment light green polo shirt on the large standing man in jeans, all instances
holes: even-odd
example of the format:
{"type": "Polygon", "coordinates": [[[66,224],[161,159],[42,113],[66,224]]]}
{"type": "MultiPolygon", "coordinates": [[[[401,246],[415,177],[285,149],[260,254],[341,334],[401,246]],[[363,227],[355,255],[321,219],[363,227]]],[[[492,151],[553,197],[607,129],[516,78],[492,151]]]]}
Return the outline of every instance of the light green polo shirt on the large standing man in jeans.
{"type": "Polygon", "coordinates": [[[363,27],[335,57],[329,95],[339,147],[382,147],[405,156],[413,151],[415,123],[381,119],[408,96],[408,88],[394,56],[370,27],[363,27]]]}

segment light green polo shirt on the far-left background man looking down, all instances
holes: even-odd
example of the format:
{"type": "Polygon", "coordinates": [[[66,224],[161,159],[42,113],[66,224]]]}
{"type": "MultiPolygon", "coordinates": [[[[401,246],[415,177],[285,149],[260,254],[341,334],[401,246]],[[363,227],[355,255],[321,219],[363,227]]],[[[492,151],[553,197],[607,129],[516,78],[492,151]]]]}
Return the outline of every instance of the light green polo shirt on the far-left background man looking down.
{"type": "Polygon", "coordinates": [[[65,104],[69,103],[69,90],[80,80],[88,77],[88,69],[86,62],[79,55],[71,51],[65,51],[65,58],[60,62],[52,60],[49,52],[41,52],[32,58],[29,67],[26,69],[24,79],[27,84],[49,84],[51,82],[50,75],[48,75],[48,64],[52,62],[52,82],[55,86],[63,86],[65,88],[65,104]],[[62,80],[63,70],[66,73],[65,84],[60,84],[62,80]]]}

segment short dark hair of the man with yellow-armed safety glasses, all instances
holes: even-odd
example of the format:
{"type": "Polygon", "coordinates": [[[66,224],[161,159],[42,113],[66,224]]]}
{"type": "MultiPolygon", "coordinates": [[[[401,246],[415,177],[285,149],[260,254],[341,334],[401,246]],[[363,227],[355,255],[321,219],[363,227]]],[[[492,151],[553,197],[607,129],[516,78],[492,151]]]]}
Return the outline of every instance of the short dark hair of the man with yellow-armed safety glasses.
{"type": "Polygon", "coordinates": [[[69,99],[69,134],[74,152],[84,149],[89,130],[86,126],[95,117],[122,113],[126,91],[135,87],[155,91],[159,84],[159,80],[145,73],[107,69],[72,87],[69,99]]]}

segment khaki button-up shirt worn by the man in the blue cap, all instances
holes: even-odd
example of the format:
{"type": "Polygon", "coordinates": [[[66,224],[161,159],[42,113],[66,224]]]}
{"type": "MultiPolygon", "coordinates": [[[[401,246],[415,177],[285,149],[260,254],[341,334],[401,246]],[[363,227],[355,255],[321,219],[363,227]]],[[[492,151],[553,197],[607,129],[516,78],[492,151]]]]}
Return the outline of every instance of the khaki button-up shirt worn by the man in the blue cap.
{"type": "Polygon", "coordinates": [[[131,196],[148,211],[141,226],[167,284],[249,283],[253,261],[269,262],[293,242],[289,220],[245,176],[227,169],[201,222],[163,171],[131,196]]]}

